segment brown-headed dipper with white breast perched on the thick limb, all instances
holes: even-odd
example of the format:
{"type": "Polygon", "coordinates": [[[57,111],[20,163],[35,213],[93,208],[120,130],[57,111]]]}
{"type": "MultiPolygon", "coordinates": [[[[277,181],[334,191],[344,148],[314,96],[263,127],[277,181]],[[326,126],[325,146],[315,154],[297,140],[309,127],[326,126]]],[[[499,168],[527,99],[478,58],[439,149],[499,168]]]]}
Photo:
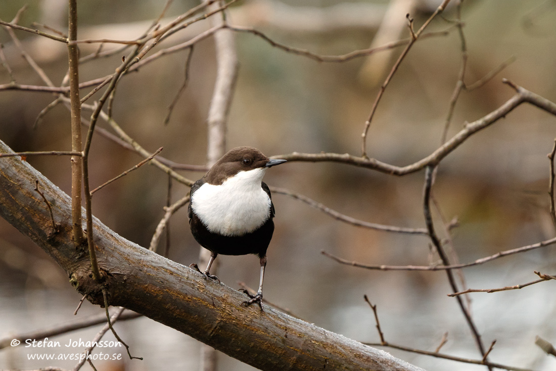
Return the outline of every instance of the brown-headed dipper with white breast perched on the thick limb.
{"type": "MultiPolygon", "coordinates": [[[[211,252],[209,273],[217,255],[259,256],[261,280],[257,295],[244,290],[262,309],[262,279],[265,275],[266,249],[274,232],[274,204],[269,187],[262,182],[266,170],[286,160],[271,160],[253,147],[237,147],[226,153],[204,177],[191,187],[188,207],[189,225],[195,240],[211,252]]],[[[192,265],[197,270],[196,265],[192,265]]]]}

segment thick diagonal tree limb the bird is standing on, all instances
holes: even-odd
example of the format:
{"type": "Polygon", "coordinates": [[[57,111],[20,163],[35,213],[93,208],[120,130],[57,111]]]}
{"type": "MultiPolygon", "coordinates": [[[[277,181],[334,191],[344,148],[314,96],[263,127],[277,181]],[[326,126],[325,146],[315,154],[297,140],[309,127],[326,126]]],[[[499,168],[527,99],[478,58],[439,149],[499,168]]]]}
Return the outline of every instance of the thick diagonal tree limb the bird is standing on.
{"type": "MultiPolygon", "coordinates": [[[[11,152],[0,142],[0,152],[11,152]]],[[[90,277],[88,257],[71,240],[71,199],[17,157],[0,161],[0,215],[30,237],[68,274],[81,294],[101,304],[102,286],[90,277]],[[52,202],[59,232],[33,190],[34,179],[52,202]]],[[[108,301],[124,306],[263,370],[420,370],[389,354],[271,308],[240,305],[245,295],[125,240],[93,218],[98,265],[108,301]],[[354,357],[355,355],[355,357],[354,357]]]]}

